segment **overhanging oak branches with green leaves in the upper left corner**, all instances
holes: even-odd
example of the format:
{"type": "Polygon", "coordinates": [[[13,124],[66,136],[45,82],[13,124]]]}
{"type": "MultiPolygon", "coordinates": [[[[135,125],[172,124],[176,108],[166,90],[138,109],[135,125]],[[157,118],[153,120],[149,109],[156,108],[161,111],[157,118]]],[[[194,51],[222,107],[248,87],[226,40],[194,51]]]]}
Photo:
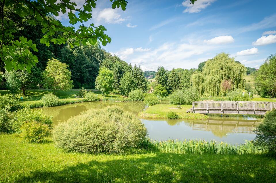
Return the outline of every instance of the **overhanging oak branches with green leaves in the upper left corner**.
{"type": "MultiPolygon", "coordinates": [[[[127,1],[111,0],[112,8],[121,8],[125,10],[127,1]]],[[[50,42],[54,44],[64,44],[69,39],[76,39],[76,42],[70,43],[71,46],[79,45],[79,42],[95,44],[99,40],[102,45],[111,42],[111,38],[104,34],[106,28],[102,25],[95,26],[90,24],[89,27],[84,26],[84,23],[92,18],[92,9],[96,8],[96,0],[85,1],[80,7],[75,2],[60,0],[60,1],[1,1],[0,12],[0,56],[4,61],[8,71],[14,68],[24,69],[28,72],[31,67],[38,62],[37,56],[33,52],[37,52],[36,44],[33,44],[31,39],[20,36],[19,39],[14,39],[14,21],[8,19],[4,13],[4,9],[14,7],[14,11],[20,17],[30,15],[28,22],[32,25],[41,24],[43,26],[40,42],[46,46],[50,46],[50,42]],[[71,25],[80,24],[79,28],[74,26],[64,26],[54,16],[59,14],[68,14],[69,23],[71,25]],[[54,15],[54,16],[53,16],[54,15]]]]}

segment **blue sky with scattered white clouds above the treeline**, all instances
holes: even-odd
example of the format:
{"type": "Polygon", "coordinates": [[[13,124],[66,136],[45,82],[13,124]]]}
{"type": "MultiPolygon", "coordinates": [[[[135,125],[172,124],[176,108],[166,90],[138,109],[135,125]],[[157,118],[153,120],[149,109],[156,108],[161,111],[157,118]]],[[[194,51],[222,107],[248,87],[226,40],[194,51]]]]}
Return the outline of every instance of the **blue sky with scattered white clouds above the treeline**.
{"type": "MultiPolygon", "coordinates": [[[[107,28],[112,42],[102,48],[143,70],[197,68],[221,52],[259,68],[276,54],[275,0],[128,0],[125,11],[96,4],[86,24],[107,28]]],[[[66,14],[57,18],[68,24],[66,14]]]]}

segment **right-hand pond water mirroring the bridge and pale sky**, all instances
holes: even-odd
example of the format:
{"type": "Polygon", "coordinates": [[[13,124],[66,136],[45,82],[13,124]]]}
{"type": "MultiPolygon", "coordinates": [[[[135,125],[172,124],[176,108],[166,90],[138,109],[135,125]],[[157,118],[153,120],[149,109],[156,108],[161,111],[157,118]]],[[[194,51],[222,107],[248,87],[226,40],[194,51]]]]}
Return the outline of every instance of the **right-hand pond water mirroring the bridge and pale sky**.
{"type": "Polygon", "coordinates": [[[241,119],[209,120],[142,120],[148,129],[149,138],[167,139],[204,139],[224,141],[231,144],[252,140],[252,131],[260,122],[241,119]]]}

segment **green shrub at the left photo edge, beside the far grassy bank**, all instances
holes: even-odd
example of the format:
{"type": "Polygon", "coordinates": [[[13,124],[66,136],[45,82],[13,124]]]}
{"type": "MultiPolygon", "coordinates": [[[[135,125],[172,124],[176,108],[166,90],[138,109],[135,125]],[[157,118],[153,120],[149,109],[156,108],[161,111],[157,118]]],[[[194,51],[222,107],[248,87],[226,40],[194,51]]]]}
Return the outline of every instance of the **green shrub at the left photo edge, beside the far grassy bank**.
{"type": "Polygon", "coordinates": [[[1,95],[0,94],[0,109],[6,109],[8,111],[17,110],[19,102],[12,94],[1,95]]]}

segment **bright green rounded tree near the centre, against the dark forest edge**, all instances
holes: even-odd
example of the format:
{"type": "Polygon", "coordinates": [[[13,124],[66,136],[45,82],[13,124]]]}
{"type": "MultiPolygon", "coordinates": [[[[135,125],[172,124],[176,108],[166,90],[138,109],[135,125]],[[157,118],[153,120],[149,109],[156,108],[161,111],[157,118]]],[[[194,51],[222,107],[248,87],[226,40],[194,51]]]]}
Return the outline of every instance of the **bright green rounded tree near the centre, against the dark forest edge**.
{"type": "Polygon", "coordinates": [[[113,89],[113,72],[106,67],[102,67],[99,70],[99,74],[96,78],[96,89],[102,91],[104,95],[109,94],[113,89]]]}

